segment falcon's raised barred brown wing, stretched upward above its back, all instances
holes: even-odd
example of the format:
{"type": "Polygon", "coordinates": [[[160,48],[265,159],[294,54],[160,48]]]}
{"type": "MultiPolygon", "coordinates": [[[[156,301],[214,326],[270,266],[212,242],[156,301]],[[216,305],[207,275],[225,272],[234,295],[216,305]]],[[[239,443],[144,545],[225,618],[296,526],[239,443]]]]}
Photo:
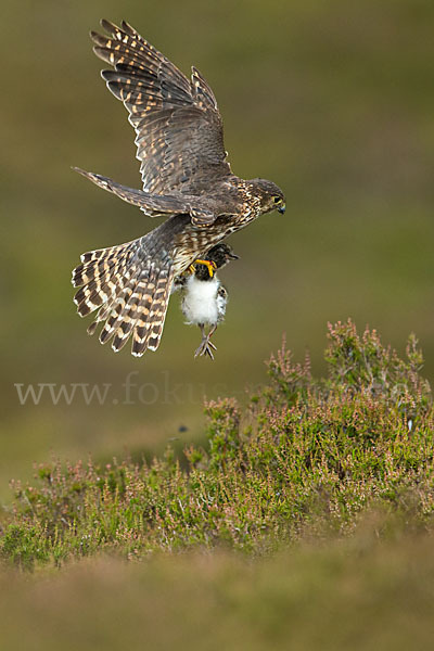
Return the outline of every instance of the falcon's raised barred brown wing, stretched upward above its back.
{"type": "Polygon", "coordinates": [[[136,130],[143,190],[200,193],[231,174],[216,98],[199,71],[188,79],[124,21],[101,21],[110,37],[91,33],[112,93],[136,130]]]}

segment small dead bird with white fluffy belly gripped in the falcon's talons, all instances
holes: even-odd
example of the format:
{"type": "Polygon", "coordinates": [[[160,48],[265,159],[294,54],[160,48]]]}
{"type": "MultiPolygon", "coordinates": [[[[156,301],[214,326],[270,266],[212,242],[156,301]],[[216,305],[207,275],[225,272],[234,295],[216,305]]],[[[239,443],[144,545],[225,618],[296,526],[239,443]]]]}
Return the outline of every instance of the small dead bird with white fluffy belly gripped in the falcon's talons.
{"type": "Polygon", "coordinates": [[[239,256],[228,244],[216,244],[203,260],[195,261],[194,272],[186,272],[175,281],[175,286],[181,286],[181,309],[187,323],[199,326],[202,333],[202,342],[194,357],[208,355],[214,359],[213,349],[217,350],[217,348],[210,337],[217,330],[218,323],[224,320],[228,304],[228,291],[221,284],[216,271],[238,258],[239,256]],[[207,333],[206,326],[209,327],[207,333]]]}

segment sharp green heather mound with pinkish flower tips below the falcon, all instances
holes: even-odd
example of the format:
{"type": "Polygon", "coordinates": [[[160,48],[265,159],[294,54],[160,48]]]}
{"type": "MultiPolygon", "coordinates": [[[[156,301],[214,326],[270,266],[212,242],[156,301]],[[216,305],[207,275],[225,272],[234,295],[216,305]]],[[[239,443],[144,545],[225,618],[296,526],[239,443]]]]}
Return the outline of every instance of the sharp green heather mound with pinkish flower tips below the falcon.
{"type": "Polygon", "coordinates": [[[1,556],[28,569],[101,550],[259,554],[306,533],[349,535],[371,509],[431,528],[434,412],[416,339],[401,360],[375,331],[337,323],[326,359],[315,380],[283,345],[247,409],[206,406],[208,446],[186,450],[186,468],[171,448],[143,465],[38,468],[33,486],[14,485],[1,556]]]}

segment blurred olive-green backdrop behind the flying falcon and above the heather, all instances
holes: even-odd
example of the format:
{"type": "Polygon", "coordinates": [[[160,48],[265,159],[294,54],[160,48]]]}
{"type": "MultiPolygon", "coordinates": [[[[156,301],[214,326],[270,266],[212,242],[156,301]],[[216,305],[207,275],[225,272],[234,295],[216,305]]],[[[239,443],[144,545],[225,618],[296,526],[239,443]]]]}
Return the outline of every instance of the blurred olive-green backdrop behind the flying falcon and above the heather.
{"type": "Polygon", "coordinates": [[[1,31],[2,499],[50,454],[104,460],[197,441],[203,396],[242,399],[283,332],[320,373],[327,321],[352,316],[400,352],[414,331],[433,379],[432,0],[5,0],[1,31]],[[199,331],[176,297],[161,348],[139,360],[88,337],[75,314],[79,254],[156,225],[71,170],[140,184],[133,131],[88,37],[103,16],[130,22],[183,72],[196,65],[234,173],[286,194],[283,217],[231,239],[241,259],[221,273],[230,305],[214,363],[193,359],[199,331]],[[111,386],[103,405],[78,387],[71,405],[43,394],[22,406],[15,383],[111,386]]]}

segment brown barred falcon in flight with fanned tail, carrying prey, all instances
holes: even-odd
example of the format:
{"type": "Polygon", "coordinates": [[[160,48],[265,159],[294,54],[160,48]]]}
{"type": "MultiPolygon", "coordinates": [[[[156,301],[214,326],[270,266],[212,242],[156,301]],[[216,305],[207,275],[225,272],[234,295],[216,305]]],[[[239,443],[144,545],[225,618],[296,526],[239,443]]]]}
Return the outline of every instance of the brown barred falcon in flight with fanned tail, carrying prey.
{"type": "Polygon", "coordinates": [[[226,159],[216,98],[193,67],[187,78],[130,25],[101,21],[108,36],[91,31],[108,89],[129,113],[136,131],[143,190],[80,171],[104,190],[166,220],[148,234],[90,251],[73,271],[74,301],[88,329],[104,323],[100,342],[120,350],[132,336],[132,355],[158,347],[174,279],[195,259],[264,213],[284,212],[280,188],[243,180],[226,159]]]}

